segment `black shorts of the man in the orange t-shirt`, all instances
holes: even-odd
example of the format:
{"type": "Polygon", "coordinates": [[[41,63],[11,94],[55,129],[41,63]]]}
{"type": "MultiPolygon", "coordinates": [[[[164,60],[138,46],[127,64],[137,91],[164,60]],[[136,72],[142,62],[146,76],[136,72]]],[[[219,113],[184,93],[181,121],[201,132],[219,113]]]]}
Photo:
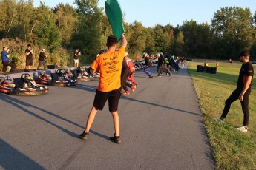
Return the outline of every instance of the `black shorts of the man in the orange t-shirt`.
{"type": "Polygon", "coordinates": [[[120,96],[121,92],[119,89],[112,90],[111,92],[101,92],[96,90],[93,106],[96,109],[102,110],[108,100],[109,112],[116,112],[120,96]]]}

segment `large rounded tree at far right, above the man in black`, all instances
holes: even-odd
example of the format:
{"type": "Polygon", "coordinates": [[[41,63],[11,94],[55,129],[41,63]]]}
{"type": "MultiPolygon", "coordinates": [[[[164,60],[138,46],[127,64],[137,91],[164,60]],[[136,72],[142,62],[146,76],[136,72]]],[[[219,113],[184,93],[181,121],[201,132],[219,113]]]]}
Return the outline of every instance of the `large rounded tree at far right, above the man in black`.
{"type": "Polygon", "coordinates": [[[252,45],[255,30],[249,8],[224,7],[217,10],[211,20],[211,27],[217,42],[221,42],[215,43],[216,55],[223,59],[237,59],[241,50],[249,49],[252,45]]]}

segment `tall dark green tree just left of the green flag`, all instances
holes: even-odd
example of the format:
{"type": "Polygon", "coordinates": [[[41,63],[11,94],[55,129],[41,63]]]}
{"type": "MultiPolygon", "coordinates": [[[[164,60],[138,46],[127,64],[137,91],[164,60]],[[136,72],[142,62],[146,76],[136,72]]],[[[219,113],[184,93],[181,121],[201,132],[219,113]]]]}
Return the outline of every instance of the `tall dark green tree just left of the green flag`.
{"type": "Polygon", "coordinates": [[[87,58],[86,62],[91,62],[96,58],[96,52],[101,47],[100,23],[102,21],[102,9],[97,7],[96,0],[76,0],[76,12],[79,14],[76,22],[76,30],[71,36],[71,47],[79,48],[87,58]]]}

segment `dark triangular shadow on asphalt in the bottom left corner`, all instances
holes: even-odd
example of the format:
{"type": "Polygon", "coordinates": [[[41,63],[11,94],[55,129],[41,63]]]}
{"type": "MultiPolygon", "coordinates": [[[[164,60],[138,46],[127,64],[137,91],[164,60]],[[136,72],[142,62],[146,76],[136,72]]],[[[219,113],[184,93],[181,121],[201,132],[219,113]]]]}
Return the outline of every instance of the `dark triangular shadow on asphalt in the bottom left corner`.
{"type": "Polygon", "coordinates": [[[0,167],[4,169],[44,169],[39,163],[31,160],[6,141],[0,139],[0,145],[0,167]]]}

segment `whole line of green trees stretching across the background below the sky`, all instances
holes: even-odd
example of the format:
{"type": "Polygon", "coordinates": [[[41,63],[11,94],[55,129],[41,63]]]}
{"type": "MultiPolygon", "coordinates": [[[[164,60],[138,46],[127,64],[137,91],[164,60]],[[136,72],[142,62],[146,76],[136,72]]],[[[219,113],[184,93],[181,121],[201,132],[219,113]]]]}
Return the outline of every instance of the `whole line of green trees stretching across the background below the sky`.
{"type": "MultiPolygon", "coordinates": [[[[1,0],[0,38],[16,42],[16,50],[22,52],[16,53],[17,57],[24,55],[19,44],[30,43],[54,55],[61,51],[62,56],[51,59],[57,63],[71,61],[76,48],[82,52],[82,60],[91,63],[96,52],[105,49],[111,27],[98,0],[74,3],[76,7],[62,3],[47,7],[43,2],[34,7],[33,0],[1,0]]],[[[249,50],[252,58],[256,58],[256,11],[251,13],[249,8],[223,7],[214,13],[211,24],[191,20],[176,27],[144,27],[140,21],[128,24],[124,19],[124,27],[131,57],[142,52],[164,52],[186,58],[224,60],[237,59],[241,50],[249,50]]]]}

